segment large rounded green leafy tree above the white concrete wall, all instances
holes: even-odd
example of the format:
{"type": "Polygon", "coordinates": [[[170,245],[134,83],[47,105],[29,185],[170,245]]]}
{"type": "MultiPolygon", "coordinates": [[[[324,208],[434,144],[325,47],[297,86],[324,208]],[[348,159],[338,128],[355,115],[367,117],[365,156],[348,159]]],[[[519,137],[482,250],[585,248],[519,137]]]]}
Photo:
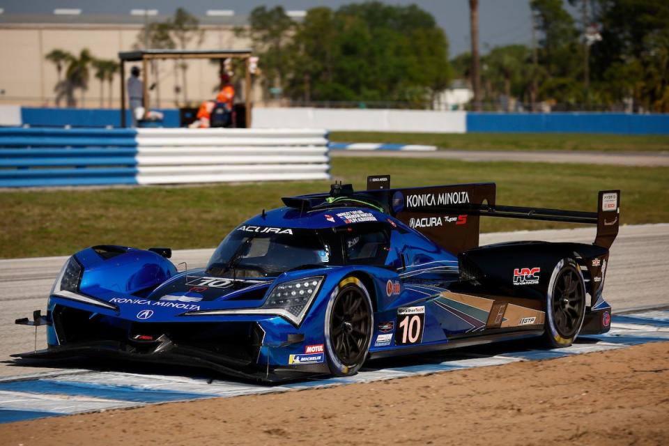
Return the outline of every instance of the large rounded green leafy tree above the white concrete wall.
{"type": "Polygon", "coordinates": [[[445,34],[417,6],[314,8],[295,26],[288,50],[284,84],[293,100],[425,107],[451,78],[445,34]]]}

